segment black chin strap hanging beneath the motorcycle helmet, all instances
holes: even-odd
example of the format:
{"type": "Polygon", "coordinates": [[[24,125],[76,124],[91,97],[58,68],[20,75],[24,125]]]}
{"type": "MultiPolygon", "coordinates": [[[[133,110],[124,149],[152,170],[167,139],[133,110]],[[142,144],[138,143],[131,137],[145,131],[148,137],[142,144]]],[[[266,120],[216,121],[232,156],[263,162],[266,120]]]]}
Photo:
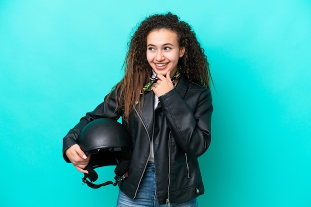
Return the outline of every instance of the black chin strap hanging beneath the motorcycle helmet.
{"type": "Polygon", "coordinates": [[[104,182],[102,184],[93,184],[92,183],[92,182],[95,182],[97,180],[98,174],[95,172],[92,165],[90,163],[88,163],[88,165],[84,168],[84,170],[88,171],[88,174],[84,173],[84,177],[82,178],[82,185],[84,185],[86,183],[88,187],[94,188],[94,189],[97,189],[97,188],[100,188],[100,187],[106,186],[106,185],[116,186],[118,182],[125,180],[129,176],[129,173],[127,171],[129,163],[130,163],[130,160],[121,160],[120,163],[116,166],[116,168],[114,170],[115,174],[117,175],[116,177],[120,177],[120,178],[116,179],[115,182],[107,181],[107,182],[104,182]],[[88,181],[87,178],[90,181],[88,181]]]}

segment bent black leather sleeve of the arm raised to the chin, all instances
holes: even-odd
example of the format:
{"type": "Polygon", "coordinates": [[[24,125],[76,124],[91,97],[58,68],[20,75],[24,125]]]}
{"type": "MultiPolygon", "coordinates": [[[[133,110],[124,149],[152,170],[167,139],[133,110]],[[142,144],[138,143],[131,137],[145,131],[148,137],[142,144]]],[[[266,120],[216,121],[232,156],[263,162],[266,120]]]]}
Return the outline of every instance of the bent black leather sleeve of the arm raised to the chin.
{"type": "Polygon", "coordinates": [[[176,143],[189,157],[196,158],[203,155],[211,143],[211,92],[207,88],[194,89],[185,99],[191,104],[175,89],[159,97],[176,143]]]}

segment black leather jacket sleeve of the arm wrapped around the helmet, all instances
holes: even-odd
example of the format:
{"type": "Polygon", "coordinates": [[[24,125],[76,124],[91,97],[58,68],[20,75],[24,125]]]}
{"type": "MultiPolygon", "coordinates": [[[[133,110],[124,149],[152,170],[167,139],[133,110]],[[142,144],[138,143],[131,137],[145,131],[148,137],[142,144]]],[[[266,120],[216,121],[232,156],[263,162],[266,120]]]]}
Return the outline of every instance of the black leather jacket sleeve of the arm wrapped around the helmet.
{"type": "Polygon", "coordinates": [[[120,118],[121,109],[115,111],[116,107],[115,95],[112,93],[109,99],[107,99],[106,96],[103,103],[99,104],[92,112],[87,112],[86,115],[80,119],[80,122],[72,128],[63,139],[63,157],[65,161],[70,162],[65,151],[69,147],[77,144],[78,136],[86,124],[98,118],[112,118],[115,120],[120,118]]]}

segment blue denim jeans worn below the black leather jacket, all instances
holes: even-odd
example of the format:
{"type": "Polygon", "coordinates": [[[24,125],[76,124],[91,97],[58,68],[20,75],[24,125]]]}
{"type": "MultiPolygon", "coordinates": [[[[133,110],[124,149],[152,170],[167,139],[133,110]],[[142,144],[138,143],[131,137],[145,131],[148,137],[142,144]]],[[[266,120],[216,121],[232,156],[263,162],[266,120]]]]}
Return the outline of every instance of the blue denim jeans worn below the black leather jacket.
{"type": "MultiPolygon", "coordinates": [[[[170,204],[171,207],[198,207],[197,199],[190,201],[170,204]]],[[[139,186],[137,196],[133,200],[127,197],[122,191],[119,192],[117,207],[167,207],[166,204],[159,205],[156,195],[156,170],[155,164],[149,162],[141,184],[139,186]]]]}

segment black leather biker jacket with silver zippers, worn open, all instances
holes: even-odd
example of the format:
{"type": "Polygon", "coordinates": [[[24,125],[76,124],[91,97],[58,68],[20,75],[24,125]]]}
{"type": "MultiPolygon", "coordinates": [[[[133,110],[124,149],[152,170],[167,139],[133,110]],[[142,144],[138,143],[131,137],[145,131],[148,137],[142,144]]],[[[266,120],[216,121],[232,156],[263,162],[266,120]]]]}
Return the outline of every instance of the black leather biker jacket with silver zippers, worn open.
{"type": "MultiPolygon", "coordinates": [[[[204,193],[197,157],[205,153],[211,142],[211,92],[187,80],[182,75],[175,89],[159,97],[154,110],[154,93],[145,94],[144,107],[140,100],[129,117],[128,130],[133,143],[129,177],[119,182],[119,188],[135,198],[150,157],[151,140],[154,142],[156,191],[160,204],[184,202],[204,193]]],[[[114,95],[86,113],[64,138],[65,150],[77,144],[81,129],[96,118],[122,116],[115,112],[114,95]]]]}

